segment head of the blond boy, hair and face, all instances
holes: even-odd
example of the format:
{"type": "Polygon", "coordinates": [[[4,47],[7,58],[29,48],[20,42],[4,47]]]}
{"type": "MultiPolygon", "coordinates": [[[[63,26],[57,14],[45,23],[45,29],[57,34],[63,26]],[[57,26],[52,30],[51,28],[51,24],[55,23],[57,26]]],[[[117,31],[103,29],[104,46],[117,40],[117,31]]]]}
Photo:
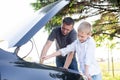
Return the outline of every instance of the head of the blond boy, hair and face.
{"type": "Polygon", "coordinates": [[[78,39],[80,42],[84,42],[87,40],[89,36],[91,36],[92,26],[88,22],[82,22],[78,26],[78,39]]]}

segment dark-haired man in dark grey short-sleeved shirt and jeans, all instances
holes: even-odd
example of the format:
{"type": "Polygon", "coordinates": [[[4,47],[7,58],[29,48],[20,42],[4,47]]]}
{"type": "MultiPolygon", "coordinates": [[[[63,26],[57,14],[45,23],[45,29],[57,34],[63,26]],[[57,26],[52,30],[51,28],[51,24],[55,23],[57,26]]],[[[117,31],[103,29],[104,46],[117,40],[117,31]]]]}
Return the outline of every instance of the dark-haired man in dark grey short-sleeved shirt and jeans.
{"type": "MultiPolygon", "coordinates": [[[[57,50],[66,47],[68,44],[71,44],[74,40],[76,40],[77,33],[73,26],[74,20],[71,17],[66,17],[63,19],[61,26],[52,30],[41,52],[40,63],[43,63],[42,57],[46,55],[54,40],[56,41],[57,50]]],[[[74,52],[70,52],[70,54],[66,55],[65,57],[57,56],[56,65],[57,67],[64,67],[78,71],[74,52]],[[70,60],[71,58],[73,58],[72,62],[70,60]]]]}

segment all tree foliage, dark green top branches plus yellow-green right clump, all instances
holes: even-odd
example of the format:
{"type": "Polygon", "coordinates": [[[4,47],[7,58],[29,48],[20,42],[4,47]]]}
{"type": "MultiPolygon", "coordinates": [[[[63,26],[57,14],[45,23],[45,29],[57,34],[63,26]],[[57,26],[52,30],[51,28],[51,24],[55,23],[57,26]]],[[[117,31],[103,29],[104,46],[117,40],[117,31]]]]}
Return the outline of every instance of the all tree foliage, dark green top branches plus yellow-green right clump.
{"type": "MultiPolygon", "coordinates": [[[[31,5],[34,10],[38,10],[55,1],[57,0],[36,0],[31,5]]],[[[56,25],[60,25],[63,17],[74,15],[77,16],[74,18],[76,22],[96,15],[101,16],[93,23],[92,36],[96,41],[120,38],[120,0],[70,0],[70,3],[46,24],[46,31],[50,32],[56,25]]]]}

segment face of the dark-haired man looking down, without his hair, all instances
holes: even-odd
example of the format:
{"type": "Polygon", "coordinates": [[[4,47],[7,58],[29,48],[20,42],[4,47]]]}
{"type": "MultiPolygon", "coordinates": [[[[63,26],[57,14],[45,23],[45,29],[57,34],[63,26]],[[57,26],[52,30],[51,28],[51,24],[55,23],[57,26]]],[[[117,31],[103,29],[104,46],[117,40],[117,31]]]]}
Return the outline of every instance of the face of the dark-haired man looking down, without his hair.
{"type": "Polygon", "coordinates": [[[73,25],[67,25],[65,23],[61,25],[61,32],[63,35],[69,34],[72,29],[73,29],[73,25]]]}

